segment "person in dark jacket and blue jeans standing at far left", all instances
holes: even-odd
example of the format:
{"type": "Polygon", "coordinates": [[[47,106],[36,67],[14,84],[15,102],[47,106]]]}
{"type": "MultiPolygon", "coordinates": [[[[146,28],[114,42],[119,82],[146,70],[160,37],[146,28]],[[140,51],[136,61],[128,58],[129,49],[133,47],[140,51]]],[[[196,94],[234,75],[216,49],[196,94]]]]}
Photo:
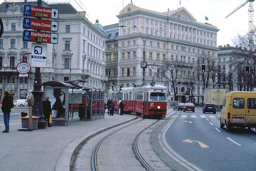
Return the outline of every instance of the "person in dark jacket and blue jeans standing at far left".
{"type": "Polygon", "coordinates": [[[12,99],[9,97],[8,91],[4,92],[4,98],[3,98],[3,104],[2,104],[2,112],[4,113],[4,126],[5,130],[2,131],[3,133],[8,133],[9,132],[9,122],[10,122],[10,113],[11,113],[11,108],[14,107],[14,104],[12,102],[12,99]]]}

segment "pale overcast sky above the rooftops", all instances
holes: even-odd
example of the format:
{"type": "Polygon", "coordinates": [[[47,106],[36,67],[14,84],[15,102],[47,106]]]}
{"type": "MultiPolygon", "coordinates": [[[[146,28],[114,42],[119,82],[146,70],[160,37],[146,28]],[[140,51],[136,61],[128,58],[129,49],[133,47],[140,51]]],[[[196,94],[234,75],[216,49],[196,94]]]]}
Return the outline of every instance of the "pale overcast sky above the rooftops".
{"type": "MultiPolygon", "coordinates": [[[[3,2],[3,0],[0,0],[3,2]]],[[[47,2],[47,0],[45,0],[47,2]]],[[[48,2],[66,2],[67,0],[48,0],[48,2]]],[[[233,45],[233,39],[237,34],[245,35],[248,32],[248,9],[249,3],[230,15],[225,17],[243,4],[246,0],[132,0],[132,3],[140,8],[157,12],[166,12],[168,8],[175,10],[185,7],[198,22],[210,23],[217,26],[217,45],[233,45]],[[204,20],[205,16],[208,21],[204,20]]],[[[256,1],[255,1],[256,2],[256,1]]],[[[77,11],[86,11],[88,19],[95,23],[96,19],[102,26],[118,23],[116,15],[131,3],[131,0],[70,0],[77,11]],[[79,5],[78,5],[79,4],[79,5]]],[[[256,11],[256,4],[254,10],[256,11]]],[[[255,12],[254,12],[255,13],[255,12]]],[[[256,24],[254,17],[254,25],[256,24]]]]}

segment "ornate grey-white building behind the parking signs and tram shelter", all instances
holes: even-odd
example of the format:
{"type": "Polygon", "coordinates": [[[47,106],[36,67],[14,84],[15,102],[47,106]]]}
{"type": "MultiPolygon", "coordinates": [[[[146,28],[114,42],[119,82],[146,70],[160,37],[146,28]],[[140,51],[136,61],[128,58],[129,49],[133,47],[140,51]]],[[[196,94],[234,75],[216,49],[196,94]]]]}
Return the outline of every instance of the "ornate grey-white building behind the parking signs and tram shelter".
{"type": "MultiPolygon", "coordinates": [[[[4,33],[0,38],[0,93],[10,91],[14,100],[27,98],[35,78],[33,66],[25,77],[16,71],[23,54],[32,51],[32,42],[22,40],[23,5],[28,4],[37,6],[37,2],[29,0],[0,4],[0,17],[4,23],[4,33]]],[[[105,89],[107,35],[103,29],[92,24],[85,12],[78,12],[69,3],[42,1],[42,6],[59,10],[59,19],[55,20],[59,22],[58,43],[47,43],[47,64],[41,67],[42,82],[84,80],[89,86],[105,89]]],[[[26,54],[25,60],[31,64],[31,55],[26,54]]]]}

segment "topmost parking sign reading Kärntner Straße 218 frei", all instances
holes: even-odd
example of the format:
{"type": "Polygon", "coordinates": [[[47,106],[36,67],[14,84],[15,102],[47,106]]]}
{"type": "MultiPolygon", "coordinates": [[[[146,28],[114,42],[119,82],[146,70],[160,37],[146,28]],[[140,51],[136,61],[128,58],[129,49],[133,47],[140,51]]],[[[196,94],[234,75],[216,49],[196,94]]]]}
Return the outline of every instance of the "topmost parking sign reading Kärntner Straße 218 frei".
{"type": "Polygon", "coordinates": [[[59,10],[54,8],[45,8],[39,6],[24,5],[23,15],[42,17],[42,18],[59,18],[59,10]]]}

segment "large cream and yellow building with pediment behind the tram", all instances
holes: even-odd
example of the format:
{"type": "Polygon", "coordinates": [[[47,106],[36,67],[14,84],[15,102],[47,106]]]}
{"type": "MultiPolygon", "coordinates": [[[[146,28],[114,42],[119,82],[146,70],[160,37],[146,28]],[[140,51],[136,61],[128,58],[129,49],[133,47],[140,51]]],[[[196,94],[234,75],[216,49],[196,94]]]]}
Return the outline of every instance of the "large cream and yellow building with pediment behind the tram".
{"type": "Polygon", "coordinates": [[[190,95],[193,93],[193,101],[199,102],[204,85],[198,70],[201,71],[201,64],[216,61],[219,29],[209,23],[198,22],[184,7],[156,12],[128,4],[117,17],[119,36],[116,39],[120,46],[117,84],[128,87],[143,83],[140,63],[145,49],[145,61],[148,64],[145,68],[145,83],[152,81],[156,71],[154,81],[162,82],[171,95],[176,90],[177,98],[171,96],[173,101],[185,101],[188,91],[190,95]],[[163,69],[165,63],[180,68],[175,87],[166,78],[170,77],[170,71],[163,69]],[[155,67],[156,70],[151,69],[155,67]],[[196,68],[196,73],[192,68],[196,68]],[[198,78],[193,92],[188,81],[192,74],[198,78]]]}

